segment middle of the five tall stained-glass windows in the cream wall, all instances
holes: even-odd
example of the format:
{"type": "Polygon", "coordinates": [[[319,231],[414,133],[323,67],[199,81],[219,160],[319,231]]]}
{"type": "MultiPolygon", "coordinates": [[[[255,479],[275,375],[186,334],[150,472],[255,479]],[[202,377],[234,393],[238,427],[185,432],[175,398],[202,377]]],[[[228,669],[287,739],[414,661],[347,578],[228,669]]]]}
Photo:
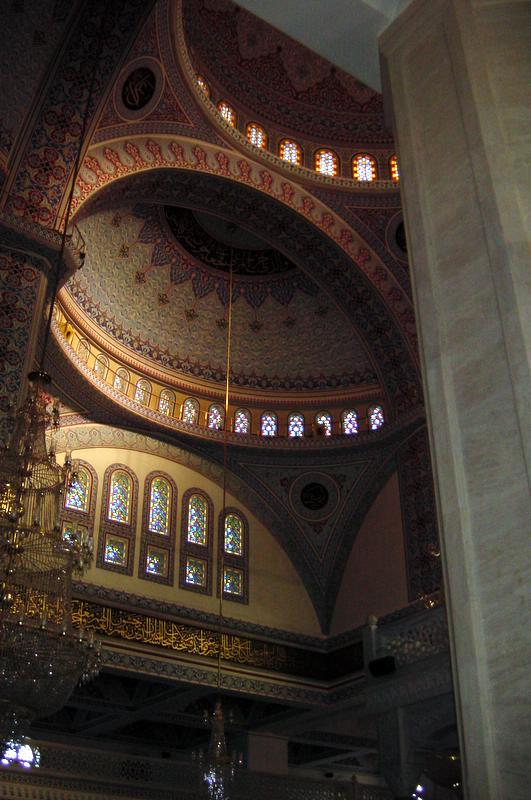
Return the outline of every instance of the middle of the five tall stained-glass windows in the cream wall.
{"type": "Polygon", "coordinates": [[[144,484],[139,578],[173,584],[176,501],[177,487],[169,475],[151,472],[144,484]]]}

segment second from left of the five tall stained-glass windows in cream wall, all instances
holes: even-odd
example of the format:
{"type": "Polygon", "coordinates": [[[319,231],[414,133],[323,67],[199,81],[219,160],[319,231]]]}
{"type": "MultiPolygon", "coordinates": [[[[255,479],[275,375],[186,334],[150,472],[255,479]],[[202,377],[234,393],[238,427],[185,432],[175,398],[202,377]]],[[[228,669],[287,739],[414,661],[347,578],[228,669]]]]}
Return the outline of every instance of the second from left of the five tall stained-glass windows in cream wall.
{"type": "Polygon", "coordinates": [[[138,480],[125,464],[111,464],[103,479],[97,565],[133,574],[138,480]]]}

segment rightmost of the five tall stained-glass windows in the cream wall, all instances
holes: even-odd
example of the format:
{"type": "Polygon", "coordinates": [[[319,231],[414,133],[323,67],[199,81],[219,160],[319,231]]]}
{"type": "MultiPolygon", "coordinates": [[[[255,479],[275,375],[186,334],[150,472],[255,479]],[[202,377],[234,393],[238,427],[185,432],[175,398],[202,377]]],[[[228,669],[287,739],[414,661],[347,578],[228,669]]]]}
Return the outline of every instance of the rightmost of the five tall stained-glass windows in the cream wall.
{"type": "MultiPolygon", "coordinates": [[[[223,598],[247,603],[249,597],[248,526],[240,511],[227,508],[220,514],[219,575],[223,598]]],[[[220,586],[218,586],[218,595],[220,586]]]]}

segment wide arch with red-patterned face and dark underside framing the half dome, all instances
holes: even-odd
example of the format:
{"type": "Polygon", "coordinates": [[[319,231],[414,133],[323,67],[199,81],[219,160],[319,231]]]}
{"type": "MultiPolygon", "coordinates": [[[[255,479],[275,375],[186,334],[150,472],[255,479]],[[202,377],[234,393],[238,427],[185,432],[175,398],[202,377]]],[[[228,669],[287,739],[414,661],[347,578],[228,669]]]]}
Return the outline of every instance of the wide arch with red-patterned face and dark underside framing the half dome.
{"type": "Polygon", "coordinates": [[[78,177],[75,214],[133,202],[139,194],[150,202],[177,202],[228,218],[239,214],[251,230],[254,223],[262,238],[304,265],[354,324],[389,405],[400,411],[418,402],[410,301],[359,234],[319,200],[230,151],[175,137],[141,137],[91,150],[78,177]],[[239,191],[242,187],[249,191],[239,191]],[[400,375],[393,376],[397,370],[400,375]]]}

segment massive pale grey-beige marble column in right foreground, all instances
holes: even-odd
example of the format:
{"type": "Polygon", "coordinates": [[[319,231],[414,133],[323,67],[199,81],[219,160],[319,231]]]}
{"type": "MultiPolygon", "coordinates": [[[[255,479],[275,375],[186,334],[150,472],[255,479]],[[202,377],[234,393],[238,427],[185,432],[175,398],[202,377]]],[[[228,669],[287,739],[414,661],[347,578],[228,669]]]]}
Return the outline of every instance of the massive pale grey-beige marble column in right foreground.
{"type": "Polygon", "coordinates": [[[527,2],[414,0],[380,39],[473,800],[531,785],[530,31],[527,2]]]}

